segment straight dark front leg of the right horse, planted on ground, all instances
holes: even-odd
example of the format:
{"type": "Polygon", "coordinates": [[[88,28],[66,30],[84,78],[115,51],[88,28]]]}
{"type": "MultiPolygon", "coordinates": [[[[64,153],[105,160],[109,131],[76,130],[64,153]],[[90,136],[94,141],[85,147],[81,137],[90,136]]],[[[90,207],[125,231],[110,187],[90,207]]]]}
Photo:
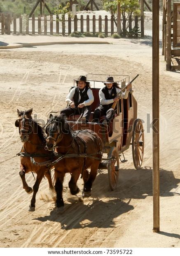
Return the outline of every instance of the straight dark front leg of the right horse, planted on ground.
{"type": "Polygon", "coordinates": [[[56,173],[55,171],[55,190],[56,190],[56,207],[63,207],[64,201],[63,201],[63,180],[64,180],[64,173],[56,173]]]}

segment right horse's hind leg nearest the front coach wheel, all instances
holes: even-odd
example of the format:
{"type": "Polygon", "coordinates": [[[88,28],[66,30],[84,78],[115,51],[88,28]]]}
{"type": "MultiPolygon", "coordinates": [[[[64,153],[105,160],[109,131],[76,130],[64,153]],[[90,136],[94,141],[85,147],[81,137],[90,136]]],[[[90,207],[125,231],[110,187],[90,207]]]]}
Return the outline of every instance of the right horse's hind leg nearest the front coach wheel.
{"type": "Polygon", "coordinates": [[[89,173],[89,178],[86,182],[84,182],[84,187],[82,190],[82,197],[90,197],[91,196],[91,187],[93,182],[96,178],[97,171],[98,171],[99,161],[94,161],[91,165],[91,171],[89,173]]]}

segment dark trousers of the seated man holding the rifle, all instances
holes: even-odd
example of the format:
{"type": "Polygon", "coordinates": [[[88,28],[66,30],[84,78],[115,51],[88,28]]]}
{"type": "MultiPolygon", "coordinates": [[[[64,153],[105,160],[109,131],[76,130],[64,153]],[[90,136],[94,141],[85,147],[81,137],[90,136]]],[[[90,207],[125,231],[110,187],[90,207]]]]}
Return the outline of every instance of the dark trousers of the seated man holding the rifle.
{"type": "Polygon", "coordinates": [[[108,109],[108,107],[100,105],[94,110],[93,121],[99,122],[100,117],[105,115],[105,119],[107,120],[107,123],[109,123],[110,119],[115,117],[115,113],[115,109],[108,109]]]}

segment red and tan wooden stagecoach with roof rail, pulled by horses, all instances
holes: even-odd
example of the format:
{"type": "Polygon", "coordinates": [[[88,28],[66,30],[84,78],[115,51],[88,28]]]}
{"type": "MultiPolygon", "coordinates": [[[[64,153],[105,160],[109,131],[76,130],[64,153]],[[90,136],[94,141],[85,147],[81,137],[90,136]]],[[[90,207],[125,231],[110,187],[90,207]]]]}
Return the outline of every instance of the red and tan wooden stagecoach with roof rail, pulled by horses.
{"type": "Polygon", "coordinates": [[[86,80],[90,82],[94,95],[89,123],[79,122],[79,115],[70,116],[68,123],[72,130],[90,129],[99,135],[103,142],[104,154],[98,169],[108,169],[110,189],[114,190],[119,177],[119,162],[127,161],[124,158],[124,152],[129,149],[130,145],[134,167],[141,168],[144,154],[144,130],[141,119],[137,119],[137,101],[133,96],[132,84],[128,98],[117,102],[115,118],[108,125],[102,123],[105,116],[101,116],[99,123],[91,122],[94,110],[100,105],[98,93],[104,86],[102,81],[105,81],[107,76],[113,76],[122,89],[130,82],[128,75],[86,74],[86,80]],[[107,157],[104,157],[105,154],[107,157]]]}

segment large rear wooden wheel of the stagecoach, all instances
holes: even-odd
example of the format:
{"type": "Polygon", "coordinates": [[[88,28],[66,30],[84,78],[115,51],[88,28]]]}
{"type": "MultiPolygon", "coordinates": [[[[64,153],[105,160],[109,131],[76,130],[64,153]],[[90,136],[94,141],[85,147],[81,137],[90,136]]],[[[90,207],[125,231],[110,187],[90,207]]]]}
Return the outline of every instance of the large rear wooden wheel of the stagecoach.
{"type": "Polygon", "coordinates": [[[132,153],[134,167],[138,170],[143,163],[144,155],[144,129],[140,119],[136,119],[133,127],[132,153]]]}

